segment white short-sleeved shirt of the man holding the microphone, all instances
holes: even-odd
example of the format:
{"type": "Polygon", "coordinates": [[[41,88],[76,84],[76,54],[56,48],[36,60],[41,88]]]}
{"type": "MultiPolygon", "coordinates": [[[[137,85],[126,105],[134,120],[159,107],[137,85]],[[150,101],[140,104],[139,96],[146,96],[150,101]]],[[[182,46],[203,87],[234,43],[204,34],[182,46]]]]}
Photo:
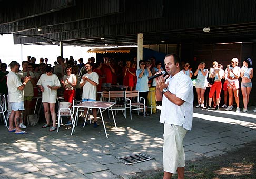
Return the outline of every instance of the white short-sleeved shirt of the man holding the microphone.
{"type": "Polygon", "coordinates": [[[160,123],[174,124],[186,130],[191,130],[194,101],[193,83],[190,77],[185,75],[183,71],[180,71],[173,77],[170,76],[165,83],[167,84],[168,82],[168,90],[185,102],[178,106],[163,95],[160,123]]]}

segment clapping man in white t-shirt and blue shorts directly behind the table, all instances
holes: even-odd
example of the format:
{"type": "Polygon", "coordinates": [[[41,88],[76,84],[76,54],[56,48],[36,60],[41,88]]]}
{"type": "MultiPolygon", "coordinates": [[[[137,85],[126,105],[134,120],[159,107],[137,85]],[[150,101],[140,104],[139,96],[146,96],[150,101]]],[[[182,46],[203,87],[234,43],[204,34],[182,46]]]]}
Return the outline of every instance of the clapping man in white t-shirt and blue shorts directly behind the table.
{"type": "MultiPolygon", "coordinates": [[[[96,101],[97,96],[97,84],[99,83],[99,76],[96,72],[92,71],[92,65],[90,63],[85,64],[86,74],[82,76],[80,81],[80,87],[83,87],[82,100],[84,101],[96,101]]],[[[84,109],[84,114],[87,114],[88,108],[84,109]]],[[[93,109],[94,125],[97,127],[97,110],[93,109]]]]}

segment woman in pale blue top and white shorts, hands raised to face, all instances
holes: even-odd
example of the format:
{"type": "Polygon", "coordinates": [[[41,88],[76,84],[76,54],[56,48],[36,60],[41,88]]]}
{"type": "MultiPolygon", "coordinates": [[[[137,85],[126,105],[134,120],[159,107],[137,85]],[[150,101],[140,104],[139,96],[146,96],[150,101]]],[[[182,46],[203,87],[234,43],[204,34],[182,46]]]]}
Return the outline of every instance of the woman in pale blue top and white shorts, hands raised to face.
{"type": "Polygon", "coordinates": [[[208,76],[208,69],[205,68],[205,63],[201,62],[198,65],[198,69],[196,69],[194,75],[198,76],[196,77],[196,83],[195,83],[195,88],[196,88],[196,93],[198,95],[198,105],[195,107],[204,107],[204,92],[207,87],[207,76],[208,76]]]}

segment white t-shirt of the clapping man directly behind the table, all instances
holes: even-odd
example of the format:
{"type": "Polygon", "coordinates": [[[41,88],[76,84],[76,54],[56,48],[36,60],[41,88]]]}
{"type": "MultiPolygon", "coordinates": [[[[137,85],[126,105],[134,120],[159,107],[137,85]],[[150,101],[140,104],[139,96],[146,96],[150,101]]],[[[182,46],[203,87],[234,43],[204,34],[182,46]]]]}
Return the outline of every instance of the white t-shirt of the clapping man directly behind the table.
{"type": "MultiPolygon", "coordinates": [[[[83,76],[91,79],[95,83],[99,84],[99,76],[96,72],[92,72],[90,74],[86,73],[83,76]]],[[[83,83],[83,79],[81,79],[80,84],[83,83]]],[[[92,85],[90,82],[86,82],[83,86],[83,99],[91,99],[96,100],[97,96],[97,85],[92,85]]]]}

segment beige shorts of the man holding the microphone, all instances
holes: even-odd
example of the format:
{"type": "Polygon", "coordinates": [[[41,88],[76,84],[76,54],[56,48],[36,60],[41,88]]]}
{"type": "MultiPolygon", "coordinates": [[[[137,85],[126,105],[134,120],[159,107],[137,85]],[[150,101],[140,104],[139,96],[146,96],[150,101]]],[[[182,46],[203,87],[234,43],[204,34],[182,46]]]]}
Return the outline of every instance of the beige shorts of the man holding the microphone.
{"type": "Polygon", "coordinates": [[[164,171],[176,173],[177,168],[185,166],[183,138],[187,130],[181,126],[164,124],[163,165],[164,171]]]}

